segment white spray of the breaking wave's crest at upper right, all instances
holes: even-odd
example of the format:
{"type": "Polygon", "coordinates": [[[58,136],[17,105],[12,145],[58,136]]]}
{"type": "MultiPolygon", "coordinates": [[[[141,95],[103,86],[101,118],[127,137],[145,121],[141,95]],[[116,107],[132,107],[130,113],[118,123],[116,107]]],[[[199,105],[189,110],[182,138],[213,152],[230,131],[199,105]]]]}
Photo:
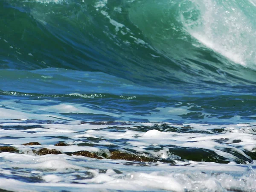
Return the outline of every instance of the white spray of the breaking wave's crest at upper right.
{"type": "Polygon", "coordinates": [[[251,11],[248,17],[247,12],[232,1],[212,0],[193,1],[189,9],[193,10],[183,10],[183,13],[190,13],[191,17],[193,13],[198,14],[197,20],[192,20],[181,13],[181,21],[190,35],[235,63],[255,67],[256,55],[251,52],[256,38],[254,20],[251,20],[255,16],[253,9],[246,9],[251,11]]]}

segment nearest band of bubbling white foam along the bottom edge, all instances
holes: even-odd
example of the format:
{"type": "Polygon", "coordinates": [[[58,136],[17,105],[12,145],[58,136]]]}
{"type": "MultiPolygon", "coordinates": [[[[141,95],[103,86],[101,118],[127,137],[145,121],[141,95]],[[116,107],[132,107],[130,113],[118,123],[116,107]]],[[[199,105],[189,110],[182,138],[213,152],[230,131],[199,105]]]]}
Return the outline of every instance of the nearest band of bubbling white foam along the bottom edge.
{"type": "MultiPolygon", "coordinates": [[[[111,171],[110,171],[111,172],[111,171]]],[[[29,189],[33,188],[36,191],[45,191],[46,189],[54,191],[61,191],[66,188],[68,191],[75,191],[81,189],[87,190],[171,190],[174,192],[188,191],[225,191],[230,189],[239,189],[242,191],[254,191],[255,172],[250,171],[244,174],[242,177],[232,177],[227,174],[207,175],[201,172],[152,172],[150,174],[142,172],[131,172],[125,175],[125,177],[116,177],[117,175],[111,172],[110,177],[108,174],[97,174],[94,179],[89,179],[87,185],[79,183],[55,183],[56,180],[61,180],[58,176],[49,175],[43,176],[49,182],[48,183],[25,183],[13,179],[0,179],[0,187],[2,189],[11,190],[13,187],[17,189],[29,189]],[[115,178],[116,177],[116,178],[115,178]],[[252,178],[253,177],[253,178],[252,178]],[[53,179],[50,182],[50,179],[53,179]],[[242,179],[239,179],[242,178],[242,179]],[[56,179],[56,180],[54,180],[56,179]],[[93,181],[90,183],[90,181],[93,181]],[[58,190],[57,188],[58,187],[58,190]],[[44,189],[43,189],[44,188],[44,189]]],[[[29,191],[29,190],[28,190],[29,191]]]]}

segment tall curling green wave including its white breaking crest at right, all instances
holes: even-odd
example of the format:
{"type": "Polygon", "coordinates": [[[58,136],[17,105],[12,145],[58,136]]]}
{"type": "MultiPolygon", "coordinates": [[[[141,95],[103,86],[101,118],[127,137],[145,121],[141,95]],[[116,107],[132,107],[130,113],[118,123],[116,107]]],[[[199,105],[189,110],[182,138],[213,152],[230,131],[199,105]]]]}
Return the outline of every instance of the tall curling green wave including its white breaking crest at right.
{"type": "Polygon", "coordinates": [[[5,69],[100,71],[184,89],[255,83],[253,0],[6,0],[0,7],[5,69]]]}

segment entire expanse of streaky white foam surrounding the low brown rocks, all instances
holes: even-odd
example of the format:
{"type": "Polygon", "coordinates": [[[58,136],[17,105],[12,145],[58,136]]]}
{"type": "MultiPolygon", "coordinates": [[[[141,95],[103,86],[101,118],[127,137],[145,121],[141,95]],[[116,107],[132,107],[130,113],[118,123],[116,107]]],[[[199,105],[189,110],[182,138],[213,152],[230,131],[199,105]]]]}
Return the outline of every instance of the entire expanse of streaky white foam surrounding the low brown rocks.
{"type": "Polygon", "coordinates": [[[234,154],[224,151],[224,149],[232,149],[233,152],[249,160],[250,157],[244,154],[243,150],[255,151],[256,136],[254,130],[256,125],[253,124],[166,124],[175,127],[177,130],[181,130],[183,126],[191,127],[190,132],[181,133],[150,130],[150,126],[152,128],[157,125],[161,127],[161,123],[118,125],[117,129],[114,125],[109,125],[110,128],[108,125],[90,125],[85,122],[81,124],[81,121],[69,122],[68,124],[30,123],[29,125],[32,126],[40,126],[40,128],[31,129],[35,131],[33,134],[27,132],[30,129],[26,128],[5,130],[5,125],[13,128],[15,128],[15,125],[26,126],[23,121],[13,120],[9,123],[2,122],[0,125],[2,126],[0,129],[1,136],[20,137],[15,139],[14,143],[11,139],[1,140],[1,143],[3,141],[3,143],[14,144],[11,146],[24,153],[0,153],[0,173],[3,177],[6,177],[5,179],[0,178],[0,189],[14,190],[13,185],[15,185],[17,189],[22,189],[20,191],[29,191],[30,189],[34,191],[102,191],[107,189],[170,190],[175,192],[192,191],[194,189],[197,189],[197,191],[256,190],[253,184],[256,179],[255,170],[250,169],[250,166],[256,165],[256,161],[239,165],[235,163],[236,157],[234,154]],[[149,130],[146,132],[136,131],[139,126],[148,126],[149,130]],[[129,130],[128,127],[130,129],[134,128],[134,130],[129,130]],[[214,129],[216,128],[224,131],[215,134],[214,129]],[[227,131],[233,129],[242,129],[243,131],[227,131]],[[67,138],[59,139],[57,137],[67,138]],[[87,141],[88,137],[96,140],[89,139],[90,141],[87,141]],[[225,140],[219,143],[216,142],[216,140],[222,139],[225,140]],[[53,145],[60,140],[70,145],[53,145]],[[233,140],[237,140],[238,143],[233,143],[233,140]],[[27,142],[40,142],[42,145],[21,145],[27,142]],[[78,146],[78,144],[93,146],[78,146]],[[161,162],[146,163],[144,164],[146,166],[140,166],[138,162],[130,162],[131,164],[127,165],[126,160],[96,160],[90,157],[68,156],[66,154],[38,156],[32,151],[49,148],[59,150],[62,153],[85,150],[95,154],[105,153],[110,155],[109,147],[106,148],[106,145],[118,146],[118,150],[122,152],[132,153],[131,151],[137,151],[145,157],[174,159],[176,166],[161,162]],[[182,148],[209,149],[227,158],[232,163],[182,161],[180,157],[169,151],[170,145],[182,148]],[[31,171],[28,172],[27,169],[31,171]],[[20,170],[24,172],[20,172],[20,170]],[[102,172],[102,170],[105,171],[102,172]],[[7,179],[12,175],[20,179],[7,179]],[[44,182],[42,180],[42,183],[20,182],[21,178],[29,177],[41,178],[44,182]],[[3,185],[2,182],[5,182],[5,184],[3,185]]]}

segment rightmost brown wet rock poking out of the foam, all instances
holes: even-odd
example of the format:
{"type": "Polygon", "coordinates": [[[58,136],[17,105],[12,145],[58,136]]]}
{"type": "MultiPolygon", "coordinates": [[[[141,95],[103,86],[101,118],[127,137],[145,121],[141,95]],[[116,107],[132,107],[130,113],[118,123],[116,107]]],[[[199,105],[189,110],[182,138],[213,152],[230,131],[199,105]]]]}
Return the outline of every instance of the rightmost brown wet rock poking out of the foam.
{"type": "Polygon", "coordinates": [[[111,152],[110,159],[121,159],[127,161],[140,161],[140,162],[156,162],[157,160],[149,157],[144,157],[137,154],[128,154],[120,151],[111,152]]]}

